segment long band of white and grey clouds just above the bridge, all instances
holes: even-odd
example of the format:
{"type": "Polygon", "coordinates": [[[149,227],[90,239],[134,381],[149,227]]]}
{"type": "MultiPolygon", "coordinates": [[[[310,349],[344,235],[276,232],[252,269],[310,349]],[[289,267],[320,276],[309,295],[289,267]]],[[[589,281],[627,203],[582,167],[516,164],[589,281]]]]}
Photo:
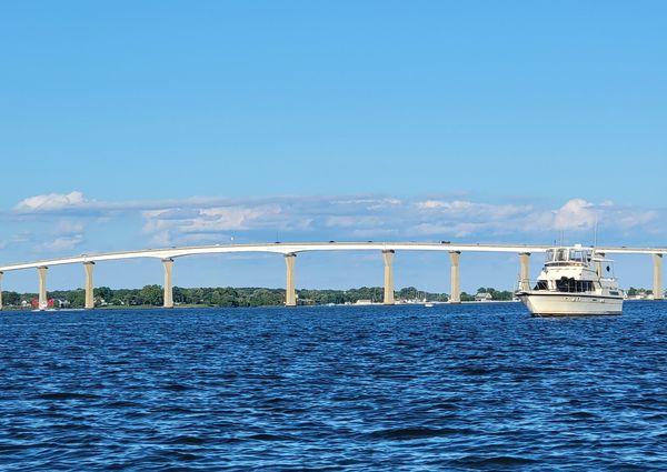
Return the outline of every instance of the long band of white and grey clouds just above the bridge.
{"type": "MultiPolygon", "coordinates": [[[[19,220],[48,222],[41,251],[71,251],[100,221],[135,221],[145,238],[136,247],[285,240],[461,240],[548,242],[559,233],[593,239],[596,224],[607,234],[665,239],[666,211],[594,203],[574,198],[557,208],[464,199],[392,197],[279,197],[104,202],[80,191],[21,200],[19,220]],[[128,218],[129,215],[133,218],[128,218]]],[[[120,227],[122,227],[121,224],[120,227]]],[[[120,229],[118,230],[120,231],[120,229]]],[[[113,234],[109,234],[112,238],[113,234]]],[[[7,245],[7,242],[4,243],[7,245]]],[[[116,248],[128,249],[128,248],[116,248]]]]}

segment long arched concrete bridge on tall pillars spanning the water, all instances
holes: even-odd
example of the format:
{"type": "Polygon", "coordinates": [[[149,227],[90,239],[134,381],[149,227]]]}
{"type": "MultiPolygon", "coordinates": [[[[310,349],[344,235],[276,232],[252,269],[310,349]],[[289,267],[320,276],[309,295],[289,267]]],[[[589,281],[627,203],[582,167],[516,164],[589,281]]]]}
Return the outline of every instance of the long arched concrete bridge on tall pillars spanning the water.
{"type": "MultiPolygon", "coordinates": [[[[238,252],[263,252],[282,254],[287,268],[286,300],[287,307],[297,304],[295,290],[295,261],[300,252],[313,251],[377,251],[385,262],[385,304],[394,304],[394,254],[396,251],[446,251],[450,258],[451,289],[450,302],[460,302],[459,259],[464,252],[510,252],[519,257],[519,278],[530,279],[529,261],[531,253],[546,252],[551,245],[517,245],[517,244],[457,244],[442,241],[432,242],[299,242],[268,244],[216,244],[166,249],[145,249],[139,251],[110,252],[100,254],[81,254],[71,258],[59,258],[34,262],[0,265],[0,309],[2,309],[2,277],[6,272],[26,269],[37,269],[39,275],[39,307],[47,307],[47,271],[51,265],[82,264],[84,270],[86,308],[94,307],[93,269],[97,262],[116,261],[121,259],[151,258],[162,261],[165,269],[165,308],[173,308],[173,290],[171,272],[173,260],[186,255],[219,254],[238,252]]],[[[654,297],[663,299],[663,255],[667,248],[596,248],[600,254],[647,254],[654,263],[654,297]]]]}

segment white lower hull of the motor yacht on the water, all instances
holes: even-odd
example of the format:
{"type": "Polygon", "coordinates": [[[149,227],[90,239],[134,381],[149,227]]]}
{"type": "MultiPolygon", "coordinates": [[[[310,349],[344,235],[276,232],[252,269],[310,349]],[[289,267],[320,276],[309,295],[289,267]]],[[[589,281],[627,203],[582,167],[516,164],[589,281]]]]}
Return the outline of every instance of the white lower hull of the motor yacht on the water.
{"type": "Polygon", "coordinates": [[[599,297],[583,293],[545,293],[528,291],[518,294],[519,300],[535,315],[586,315],[620,314],[623,298],[599,297]]]}

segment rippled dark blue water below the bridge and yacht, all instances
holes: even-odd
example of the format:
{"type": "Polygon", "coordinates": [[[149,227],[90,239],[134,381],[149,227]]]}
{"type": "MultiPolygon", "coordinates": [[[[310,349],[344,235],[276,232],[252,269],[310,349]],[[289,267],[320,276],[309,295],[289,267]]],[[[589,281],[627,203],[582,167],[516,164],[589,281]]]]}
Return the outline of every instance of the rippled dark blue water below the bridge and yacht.
{"type": "Polygon", "coordinates": [[[0,469],[667,469],[667,303],[0,314],[0,469]]]}

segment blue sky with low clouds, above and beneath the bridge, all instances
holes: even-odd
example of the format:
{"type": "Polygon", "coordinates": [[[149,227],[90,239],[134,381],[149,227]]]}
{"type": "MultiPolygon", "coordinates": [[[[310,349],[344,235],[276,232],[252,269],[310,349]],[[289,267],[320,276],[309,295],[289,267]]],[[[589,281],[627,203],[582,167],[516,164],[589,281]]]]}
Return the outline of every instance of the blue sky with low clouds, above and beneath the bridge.
{"type": "MultiPolygon", "coordinates": [[[[0,3],[0,263],[265,241],[667,245],[663,1],[0,3]]],[[[531,258],[537,274],[540,258],[531,258]]],[[[449,291],[447,254],[397,287],[449,291]]],[[[648,257],[617,258],[650,288],[648,257]]],[[[158,261],[98,285],[161,283],[158,261]]],[[[512,289],[518,258],[461,257],[512,289]]],[[[51,268],[49,288],[83,283],[51,268]]],[[[181,287],[282,287],[276,255],[183,258],[181,287]]],[[[301,254],[297,288],[380,285],[301,254]]],[[[34,271],[3,290],[34,291],[34,271]]]]}

